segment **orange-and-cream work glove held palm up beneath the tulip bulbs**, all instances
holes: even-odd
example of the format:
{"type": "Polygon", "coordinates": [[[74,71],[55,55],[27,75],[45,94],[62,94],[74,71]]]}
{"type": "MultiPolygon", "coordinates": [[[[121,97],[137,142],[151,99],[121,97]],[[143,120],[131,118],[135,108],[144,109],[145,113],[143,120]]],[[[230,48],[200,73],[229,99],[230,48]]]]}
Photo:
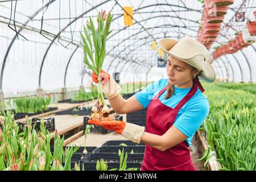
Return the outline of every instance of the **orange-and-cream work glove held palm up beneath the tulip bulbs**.
{"type": "Polygon", "coordinates": [[[134,143],[141,142],[141,136],[144,133],[145,127],[127,123],[123,121],[96,121],[88,120],[89,124],[102,126],[107,130],[113,130],[123,137],[131,140],[134,143]]]}

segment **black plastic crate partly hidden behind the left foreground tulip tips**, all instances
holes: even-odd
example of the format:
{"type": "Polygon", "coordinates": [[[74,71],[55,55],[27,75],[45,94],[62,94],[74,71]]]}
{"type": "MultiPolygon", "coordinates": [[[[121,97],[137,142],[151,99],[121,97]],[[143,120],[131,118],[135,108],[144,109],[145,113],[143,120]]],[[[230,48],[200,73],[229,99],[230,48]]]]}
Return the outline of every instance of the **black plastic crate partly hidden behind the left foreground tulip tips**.
{"type": "MultiPolygon", "coordinates": [[[[44,126],[46,127],[46,130],[48,130],[50,133],[55,131],[55,118],[44,118],[44,126]]],[[[32,118],[31,125],[32,127],[35,126],[36,131],[40,131],[40,118],[32,118]]],[[[23,132],[23,129],[26,128],[27,130],[27,123],[17,122],[19,126],[19,132],[23,132]]]]}

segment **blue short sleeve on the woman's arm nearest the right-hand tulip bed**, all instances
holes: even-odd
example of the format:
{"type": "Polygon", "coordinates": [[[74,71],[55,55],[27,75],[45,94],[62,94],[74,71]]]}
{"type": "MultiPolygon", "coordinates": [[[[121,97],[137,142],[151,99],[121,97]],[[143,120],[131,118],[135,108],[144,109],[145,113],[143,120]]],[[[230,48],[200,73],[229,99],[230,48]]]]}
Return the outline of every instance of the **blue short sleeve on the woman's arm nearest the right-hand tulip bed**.
{"type": "Polygon", "coordinates": [[[174,122],[177,127],[187,137],[192,137],[196,130],[203,124],[209,114],[209,103],[207,98],[201,98],[191,106],[188,106],[184,113],[174,122]]]}

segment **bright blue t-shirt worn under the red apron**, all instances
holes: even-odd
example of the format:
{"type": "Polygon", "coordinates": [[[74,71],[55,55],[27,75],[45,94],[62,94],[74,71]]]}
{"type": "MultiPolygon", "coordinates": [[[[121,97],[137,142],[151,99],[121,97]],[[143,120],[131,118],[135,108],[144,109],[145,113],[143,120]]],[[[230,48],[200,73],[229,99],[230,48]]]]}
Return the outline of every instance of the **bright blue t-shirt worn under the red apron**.
{"type": "MultiPolygon", "coordinates": [[[[168,84],[168,78],[161,78],[159,81],[153,82],[145,89],[135,94],[135,97],[143,107],[147,107],[151,100],[168,84]]],[[[177,88],[174,86],[174,94],[166,100],[164,96],[167,90],[159,97],[160,102],[164,105],[174,108],[189,92],[191,88],[177,88]]],[[[196,130],[204,122],[209,114],[209,103],[200,89],[197,89],[196,94],[181,107],[175,118],[174,126],[177,127],[183,134],[187,135],[188,146],[191,146],[193,135],[196,130]]],[[[157,122],[157,121],[155,121],[157,122]]]]}

